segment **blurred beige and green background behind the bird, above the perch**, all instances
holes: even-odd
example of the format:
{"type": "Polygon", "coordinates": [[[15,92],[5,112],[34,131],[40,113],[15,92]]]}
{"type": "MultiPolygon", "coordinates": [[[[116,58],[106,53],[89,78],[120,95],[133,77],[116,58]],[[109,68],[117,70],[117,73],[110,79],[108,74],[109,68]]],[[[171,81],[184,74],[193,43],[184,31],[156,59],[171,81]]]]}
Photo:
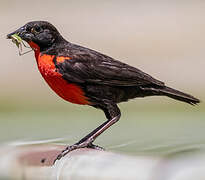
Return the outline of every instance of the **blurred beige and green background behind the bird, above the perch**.
{"type": "Polygon", "coordinates": [[[167,155],[205,145],[205,1],[2,0],[0,6],[0,143],[74,143],[105,121],[102,112],[60,99],[42,79],[33,52],[6,34],[46,20],[69,41],[133,65],[202,100],[166,97],[120,104],[121,120],[96,143],[127,154],[167,155]]]}

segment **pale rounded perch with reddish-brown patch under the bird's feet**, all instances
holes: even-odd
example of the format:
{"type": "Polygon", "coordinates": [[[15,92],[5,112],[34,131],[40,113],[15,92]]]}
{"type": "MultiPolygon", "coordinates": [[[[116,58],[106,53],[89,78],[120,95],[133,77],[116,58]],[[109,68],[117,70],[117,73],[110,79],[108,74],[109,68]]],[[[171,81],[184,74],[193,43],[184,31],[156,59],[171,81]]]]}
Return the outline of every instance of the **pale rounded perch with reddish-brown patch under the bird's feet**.
{"type": "Polygon", "coordinates": [[[196,180],[205,179],[205,156],[126,156],[79,149],[53,165],[64,146],[7,145],[0,149],[0,179],[23,180],[196,180]]]}

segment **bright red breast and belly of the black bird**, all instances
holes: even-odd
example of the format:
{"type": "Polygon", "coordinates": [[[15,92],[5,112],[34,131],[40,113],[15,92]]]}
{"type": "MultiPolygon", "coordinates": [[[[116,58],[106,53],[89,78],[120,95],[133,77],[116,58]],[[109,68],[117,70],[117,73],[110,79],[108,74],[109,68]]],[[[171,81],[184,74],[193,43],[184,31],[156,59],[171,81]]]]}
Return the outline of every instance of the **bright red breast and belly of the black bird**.
{"type": "Polygon", "coordinates": [[[43,56],[38,59],[38,68],[51,89],[61,98],[71,103],[90,104],[88,98],[84,96],[83,90],[78,85],[67,82],[60,73],[56,72],[52,61],[54,56],[50,56],[50,58],[43,56]]]}

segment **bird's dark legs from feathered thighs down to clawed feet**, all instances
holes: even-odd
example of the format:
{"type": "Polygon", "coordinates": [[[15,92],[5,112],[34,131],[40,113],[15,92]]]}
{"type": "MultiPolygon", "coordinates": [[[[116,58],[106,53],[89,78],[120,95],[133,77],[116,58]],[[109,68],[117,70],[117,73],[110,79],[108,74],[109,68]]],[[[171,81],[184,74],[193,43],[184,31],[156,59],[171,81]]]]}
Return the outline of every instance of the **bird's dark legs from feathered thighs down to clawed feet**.
{"type": "MultiPolygon", "coordinates": [[[[102,134],[107,128],[112,126],[114,123],[116,123],[120,119],[120,109],[117,107],[114,103],[106,103],[104,106],[100,106],[100,109],[102,109],[107,117],[107,121],[101,124],[99,127],[94,129],[91,133],[89,133],[87,136],[82,138],[79,142],[75,143],[72,146],[68,146],[66,149],[64,149],[55,159],[60,160],[63,156],[68,154],[70,151],[73,151],[78,148],[94,148],[94,149],[102,149],[99,146],[96,146],[93,143],[95,139],[102,134]]],[[[54,161],[54,163],[55,163],[54,161]]]]}

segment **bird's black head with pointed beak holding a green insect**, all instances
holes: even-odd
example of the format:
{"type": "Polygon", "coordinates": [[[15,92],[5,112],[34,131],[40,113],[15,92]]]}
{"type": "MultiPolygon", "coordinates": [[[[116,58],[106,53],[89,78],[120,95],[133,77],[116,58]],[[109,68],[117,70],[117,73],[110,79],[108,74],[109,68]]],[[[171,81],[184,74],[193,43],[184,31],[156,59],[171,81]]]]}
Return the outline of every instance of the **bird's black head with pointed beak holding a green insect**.
{"type": "MultiPolygon", "coordinates": [[[[38,46],[41,50],[51,47],[54,42],[61,39],[58,30],[47,21],[32,21],[7,35],[12,39],[13,35],[20,37],[30,46],[38,46]]],[[[34,47],[32,47],[34,48],[34,47]]]]}

